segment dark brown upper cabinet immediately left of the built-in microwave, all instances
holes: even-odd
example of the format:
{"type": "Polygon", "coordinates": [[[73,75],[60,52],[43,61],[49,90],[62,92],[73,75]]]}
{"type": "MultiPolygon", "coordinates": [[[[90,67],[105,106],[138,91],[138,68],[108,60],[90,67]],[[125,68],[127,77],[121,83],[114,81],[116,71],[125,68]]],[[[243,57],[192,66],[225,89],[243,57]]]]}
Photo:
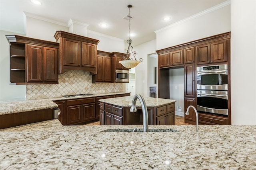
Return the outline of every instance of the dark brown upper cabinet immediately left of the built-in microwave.
{"type": "Polygon", "coordinates": [[[112,70],[111,70],[111,65],[112,61],[109,56],[110,53],[104,52],[104,51],[98,51],[98,74],[92,75],[92,82],[106,82],[110,83],[112,81],[112,70]]]}

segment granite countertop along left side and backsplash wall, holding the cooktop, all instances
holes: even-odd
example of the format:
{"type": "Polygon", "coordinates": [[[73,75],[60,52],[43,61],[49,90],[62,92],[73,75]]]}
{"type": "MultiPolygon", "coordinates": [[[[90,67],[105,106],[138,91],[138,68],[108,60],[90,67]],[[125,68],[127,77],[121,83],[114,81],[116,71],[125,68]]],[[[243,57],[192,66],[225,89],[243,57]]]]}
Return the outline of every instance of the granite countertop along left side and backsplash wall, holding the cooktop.
{"type": "Polygon", "coordinates": [[[76,97],[70,97],[70,98],[60,97],[60,98],[38,99],[38,100],[26,100],[22,98],[22,99],[18,99],[18,101],[17,99],[2,101],[0,102],[0,115],[58,107],[58,105],[53,102],[58,100],[90,98],[90,97],[99,97],[99,96],[126,94],[126,93],[128,92],[94,94],[92,96],[76,96],[76,97]]]}

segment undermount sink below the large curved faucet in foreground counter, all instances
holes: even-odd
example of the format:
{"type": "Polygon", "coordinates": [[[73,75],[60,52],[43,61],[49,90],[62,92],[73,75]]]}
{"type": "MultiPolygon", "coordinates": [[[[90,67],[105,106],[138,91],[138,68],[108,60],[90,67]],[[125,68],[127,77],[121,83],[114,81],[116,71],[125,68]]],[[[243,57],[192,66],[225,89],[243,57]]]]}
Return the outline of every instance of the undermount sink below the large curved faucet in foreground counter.
{"type": "MultiPolygon", "coordinates": [[[[102,132],[133,132],[134,129],[107,129],[102,132]]],[[[143,129],[137,129],[137,132],[143,132],[143,129]]],[[[179,132],[174,129],[148,129],[148,132],[179,132]]]]}

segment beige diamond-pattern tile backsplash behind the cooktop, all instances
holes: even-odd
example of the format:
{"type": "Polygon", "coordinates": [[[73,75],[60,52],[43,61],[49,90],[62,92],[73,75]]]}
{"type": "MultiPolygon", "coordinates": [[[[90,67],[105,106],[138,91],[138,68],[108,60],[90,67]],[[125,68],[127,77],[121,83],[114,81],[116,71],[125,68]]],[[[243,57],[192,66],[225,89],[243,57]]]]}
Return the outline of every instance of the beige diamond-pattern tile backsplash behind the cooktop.
{"type": "Polygon", "coordinates": [[[59,84],[28,84],[26,99],[57,98],[70,94],[123,92],[122,83],[92,83],[90,72],[70,70],[59,74],[59,84]]]}

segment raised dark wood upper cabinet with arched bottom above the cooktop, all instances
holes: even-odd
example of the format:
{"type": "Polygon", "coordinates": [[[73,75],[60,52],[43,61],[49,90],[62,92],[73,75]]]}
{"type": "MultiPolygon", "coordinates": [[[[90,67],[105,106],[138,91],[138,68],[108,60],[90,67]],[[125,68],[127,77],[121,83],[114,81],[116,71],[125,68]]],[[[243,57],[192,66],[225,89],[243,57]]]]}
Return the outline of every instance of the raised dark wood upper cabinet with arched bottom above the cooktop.
{"type": "Polygon", "coordinates": [[[64,31],[54,35],[60,43],[60,70],[87,70],[97,74],[97,45],[99,40],[64,31]]]}

